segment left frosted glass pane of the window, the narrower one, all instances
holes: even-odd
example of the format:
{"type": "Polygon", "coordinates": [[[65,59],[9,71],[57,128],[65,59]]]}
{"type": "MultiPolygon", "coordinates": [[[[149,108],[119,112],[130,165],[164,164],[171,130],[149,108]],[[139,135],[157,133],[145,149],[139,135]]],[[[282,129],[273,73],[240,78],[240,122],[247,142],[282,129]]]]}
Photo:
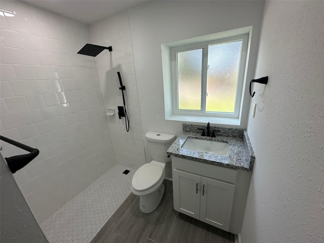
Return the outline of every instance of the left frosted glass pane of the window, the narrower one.
{"type": "Polygon", "coordinates": [[[178,108],[201,110],[203,49],[178,52],[178,108]]]}

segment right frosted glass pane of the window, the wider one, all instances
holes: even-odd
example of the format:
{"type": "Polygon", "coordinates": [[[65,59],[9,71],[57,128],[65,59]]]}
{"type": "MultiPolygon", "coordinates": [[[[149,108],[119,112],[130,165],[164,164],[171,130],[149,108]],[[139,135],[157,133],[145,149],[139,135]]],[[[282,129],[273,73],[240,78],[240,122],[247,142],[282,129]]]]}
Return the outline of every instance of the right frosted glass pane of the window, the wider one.
{"type": "Polygon", "coordinates": [[[209,46],[206,111],[234,112],[242,41],[209,46]]]}

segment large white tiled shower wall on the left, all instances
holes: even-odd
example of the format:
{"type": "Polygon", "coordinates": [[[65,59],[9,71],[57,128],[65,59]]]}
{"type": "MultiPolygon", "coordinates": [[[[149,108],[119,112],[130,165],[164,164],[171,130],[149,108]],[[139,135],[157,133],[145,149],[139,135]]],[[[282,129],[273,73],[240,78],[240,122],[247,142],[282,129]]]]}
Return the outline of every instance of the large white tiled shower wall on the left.
{"type": "Polygon", "coordinates": [[[113,145],[95,58],[76,55],[88,27],[21,2],[0,9],[1,135],[40,150],[14,175],[41,223],[115,164],[113,145]]]}

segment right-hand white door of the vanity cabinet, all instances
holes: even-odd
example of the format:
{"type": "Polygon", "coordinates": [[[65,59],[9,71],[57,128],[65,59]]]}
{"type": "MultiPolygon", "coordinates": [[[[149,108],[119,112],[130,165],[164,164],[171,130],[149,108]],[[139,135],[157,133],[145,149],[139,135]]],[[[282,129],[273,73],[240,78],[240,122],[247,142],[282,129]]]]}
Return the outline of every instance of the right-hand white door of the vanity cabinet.
{"type": "Polygon", "coordinates": [[[235,186],[201,177],[200,220],[228,231],[235,186]]]}

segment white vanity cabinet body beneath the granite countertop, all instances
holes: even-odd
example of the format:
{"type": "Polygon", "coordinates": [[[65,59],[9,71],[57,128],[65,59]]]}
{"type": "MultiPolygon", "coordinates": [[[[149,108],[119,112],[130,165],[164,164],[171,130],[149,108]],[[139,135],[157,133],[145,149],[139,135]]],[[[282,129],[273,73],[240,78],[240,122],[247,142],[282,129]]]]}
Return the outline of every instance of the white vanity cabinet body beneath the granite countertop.
{"type": "Polygon", "coordinates": [[[225,231],[239,233],[245,201],[235,204],[235,199],[242,196],[242,185],[235,185],[237,174],[241,177],[238,171],[173,156],[174,209],[225,231]],[[235,191],[236,187],[239,190],[235,191]]]}

